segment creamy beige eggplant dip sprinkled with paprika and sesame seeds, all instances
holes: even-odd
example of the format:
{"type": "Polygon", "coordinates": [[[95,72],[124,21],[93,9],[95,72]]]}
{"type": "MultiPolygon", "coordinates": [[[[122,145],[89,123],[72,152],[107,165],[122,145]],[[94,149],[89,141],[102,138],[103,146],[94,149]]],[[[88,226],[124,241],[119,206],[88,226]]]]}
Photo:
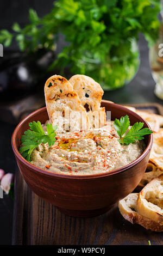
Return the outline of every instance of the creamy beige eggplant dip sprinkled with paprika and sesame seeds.
{"type": "MultiPolygon", "coordinates": [[[[44,131],[46,124],[42,125],[44,131]]],[[[119,138],[112,122],[111,127],[110,123],[106,123],[99,129],[57,133],[54,145],[40,144],[34,149],[31,163],[58,174],[110,172],[133,162],[145,150],[143,141],[125,145],[118,142],[119,138]]]]}

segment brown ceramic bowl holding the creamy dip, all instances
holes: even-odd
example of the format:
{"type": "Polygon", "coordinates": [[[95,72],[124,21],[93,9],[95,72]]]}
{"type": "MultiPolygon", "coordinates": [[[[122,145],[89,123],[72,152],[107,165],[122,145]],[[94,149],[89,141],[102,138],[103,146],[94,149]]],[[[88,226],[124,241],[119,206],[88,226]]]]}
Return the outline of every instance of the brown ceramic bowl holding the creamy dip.
{"type": "MultiPolygon", "coordinates": [[[[120,119],[128,114],[130,123],[145,120],[129,109],[103,100],[102,106],[111,111],[111,119],[120,119]]],[[[91,217],[103,214],[111,205],[131,193],[139,184],[145,173],[153,136],[145,136],[146,149],[135,161],[122,168],[103,174],[64,175],[49,172],[27,162],[20,153],[20,139],[24,131],[29,129],[28,123],[48,120],[46,107],[40,108],[17,125],[12,135],[12,149],[24,180],[31,190],[47,202],[57,206],[65,214],[79,217],[91,217]]]]}

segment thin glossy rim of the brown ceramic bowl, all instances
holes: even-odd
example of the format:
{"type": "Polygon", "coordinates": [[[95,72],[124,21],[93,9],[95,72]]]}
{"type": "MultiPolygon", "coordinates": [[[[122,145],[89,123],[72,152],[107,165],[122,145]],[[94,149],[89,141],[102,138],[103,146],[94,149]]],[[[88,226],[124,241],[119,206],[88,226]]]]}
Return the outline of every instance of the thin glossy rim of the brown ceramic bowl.
{"type": "MultiPolygon", "coordinates": [[[[125,111],[127,111],[128,113],[134,114],[135,117],[137,117],[138,119],[140,119],[140,121],[142,121],[143,123],[145,123],[147,125],[147,127],[149,129],[151,129],[151,127],[148,125],[148,123],[146,122],[146,120],[144,120],[142,117],[140,117],[140,115],[136,114],[135,112],[131,111],[130,109],[122,106],[122,105],[118,105],[116,103],[111,103],[110,101],[107,100],[102,100],[103,103],[107,102],[110,105],[114,105],[115,107],[119,108],[119,109],[123,109],[125,111]]],[[[15,156],[18,158],[18,160],[20,160],[24,165],[26,165],[27,167],[31,168],[34,172],[39,172],[41,174],[44,175],[48,175],[48,176],[55,176],[56,178],[67,178],[67,179],[92,179],[92,178],[102,178],[105,176],[109,176],[109,175],[113,175],[113,174],[117,174],[117,173],[121,173],[133,166],[135,166],[137,163],[139,163],[142,159],[145,158],[145,156],[149,153],[149,151],[152,148],[152,144],[153,144],[153,134],[148,135],[149,136],[149,142],[148,145],[145,149],[145,151],[143,151],[143,153],[137,158],[135,159],[133,162],[126,164],[126,166],[123,166],[121,168],[117,168],[115,170],[111,170],[109,172],[105,172],[105,173],[99,173],[99,174],[90,174],[90,175],[71,175],[71,174],[60,174],[60,173],[55,173],[55,172],[51,172],[49,170],[44,170],[41,169],[39,167],[34,166],[34,164],[28,162],[26,159],[24,159],[22,157],[22,155],[18,152],[16,145],[15,145],[15,138],[17,135],[18,130],[20,129],[21,125],[23,123],[26,122],[26,120],[32,116],[34,116],[37,112],[43,112],[45,111],[46,106],[37,109],[36,111],[30,113],[29,115],[27,115],[27,117],[25,117],[23,120],[20,121],[20,123],[16,126],[14,132],[12,133],[12,137],[11,137],[11,145],[12,145],[12,150],[14,151],[15,156]]]]}

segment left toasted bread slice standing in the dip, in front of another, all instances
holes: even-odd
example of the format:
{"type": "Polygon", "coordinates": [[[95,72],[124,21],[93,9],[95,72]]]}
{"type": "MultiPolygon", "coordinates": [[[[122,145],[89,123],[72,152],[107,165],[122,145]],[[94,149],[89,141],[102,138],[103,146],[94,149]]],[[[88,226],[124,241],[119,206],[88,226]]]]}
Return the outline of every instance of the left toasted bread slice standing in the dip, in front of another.
{"type": "Polygon", "coordinates": [[[45,83],[45,99],[49,119],[57,131],[78,131],[90,127],[85,108],[65,77],[54,75],[45,83]]]}

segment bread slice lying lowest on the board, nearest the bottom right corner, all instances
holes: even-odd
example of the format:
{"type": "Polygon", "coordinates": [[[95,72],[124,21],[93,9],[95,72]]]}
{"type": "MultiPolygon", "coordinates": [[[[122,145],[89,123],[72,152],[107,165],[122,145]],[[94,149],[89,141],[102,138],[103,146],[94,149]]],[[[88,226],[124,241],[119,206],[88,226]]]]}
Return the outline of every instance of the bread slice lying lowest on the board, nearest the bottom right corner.
{"type": "Polygon", "coordinates": [[[132,224],[140,224],[146,229],[151,229],[152,231],[163,231],[163,225],[155,221],[150,220],[147,217],[144,217],[137,212],[137,198],[139,193],[131,193],[127,197],[120,200],[118,203],[118,208],[122,216],[132,224]]]}

